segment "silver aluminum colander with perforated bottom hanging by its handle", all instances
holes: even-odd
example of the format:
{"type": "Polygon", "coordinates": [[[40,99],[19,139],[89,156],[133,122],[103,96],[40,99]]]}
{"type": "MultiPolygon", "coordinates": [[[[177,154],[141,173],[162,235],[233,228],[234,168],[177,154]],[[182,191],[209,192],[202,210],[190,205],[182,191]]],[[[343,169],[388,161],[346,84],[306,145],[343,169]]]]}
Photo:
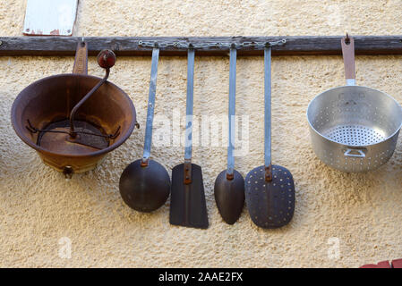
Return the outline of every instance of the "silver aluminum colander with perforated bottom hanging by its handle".
{"type": "Polygon", "coordinates": [[[367,172],[389,161],[402,127],[402,107],[374,88],[355,86],[354,39],[342,38],[346,83],[312,99],[307,107],[312,148],[343,172],[367,172]]]}

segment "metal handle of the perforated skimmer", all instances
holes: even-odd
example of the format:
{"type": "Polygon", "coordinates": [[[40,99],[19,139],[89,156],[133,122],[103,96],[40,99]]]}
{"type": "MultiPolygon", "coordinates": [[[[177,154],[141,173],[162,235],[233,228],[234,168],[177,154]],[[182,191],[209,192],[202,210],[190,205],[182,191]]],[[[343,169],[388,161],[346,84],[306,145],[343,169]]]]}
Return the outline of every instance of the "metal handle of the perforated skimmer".
{"type": "Polygon", "coordinates": [[[271,167],[271,47],[266,46],[264,49],[264,164],[265,164],[265,181],[272,181],[271,167]]]}

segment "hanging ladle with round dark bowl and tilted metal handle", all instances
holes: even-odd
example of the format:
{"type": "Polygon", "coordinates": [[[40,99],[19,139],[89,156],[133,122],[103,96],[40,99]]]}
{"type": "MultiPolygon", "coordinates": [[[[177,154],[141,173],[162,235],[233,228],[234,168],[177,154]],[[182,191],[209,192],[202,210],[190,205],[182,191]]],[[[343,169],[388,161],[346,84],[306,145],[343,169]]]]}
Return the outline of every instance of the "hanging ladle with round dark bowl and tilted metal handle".
{"type": "Polygon", "coordinates": [[[170,178],[167,170],[158,162],[150,160],[158,58],[159,48],[156,46],[152,50],[150,94],[143,156],[142,159],[125,167],[119,182],[120,194],[124,203],[139,212],[152,212],[163,206],[170,193],[170,178]]]}

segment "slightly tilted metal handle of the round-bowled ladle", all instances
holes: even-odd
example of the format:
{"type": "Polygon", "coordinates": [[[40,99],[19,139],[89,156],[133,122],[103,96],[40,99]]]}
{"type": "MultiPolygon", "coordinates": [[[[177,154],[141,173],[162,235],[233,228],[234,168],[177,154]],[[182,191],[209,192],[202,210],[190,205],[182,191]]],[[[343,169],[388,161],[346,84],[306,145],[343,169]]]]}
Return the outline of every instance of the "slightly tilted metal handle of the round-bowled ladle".
{"type": "Polygon", "coordinates": [[[150,67],[150,93],[148,96],[147,126],[145,127],[144,153],[142,155],[142,166],[148,165],[150,159],[150,147],[152,145],[152,123],[155,110],[155,95],[157,92],[159,48],[152,50],[152,63],[150,67]]]}

